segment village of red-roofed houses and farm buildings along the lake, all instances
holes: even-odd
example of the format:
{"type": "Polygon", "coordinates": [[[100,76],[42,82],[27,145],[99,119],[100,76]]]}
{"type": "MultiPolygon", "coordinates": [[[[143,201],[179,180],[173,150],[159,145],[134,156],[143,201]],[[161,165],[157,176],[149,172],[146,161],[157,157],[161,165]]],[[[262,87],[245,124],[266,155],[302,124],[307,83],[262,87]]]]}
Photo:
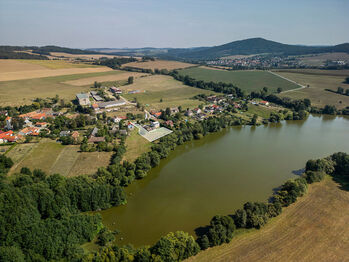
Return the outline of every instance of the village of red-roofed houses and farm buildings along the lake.
{"type": "Polygon", "coordinates": [[[174,107],[148,111],[139,104],[128,101],[122,94],[123,91],[115,86],[78,93],[76,100],[72,101],[76,104],[73,111],[71,108],[61,108],[57,111],[54,104],[14,116],[2,111],[0,116],[4,119],[4,125],[0,131],[0,144],[26,143],[33,138],[42,137],[56,139],[62,144],[99,144],[112,142],[113,139],[106,141],[107,134],[114,138],[127,136],[134,128],[138,129],[138,134],[144,139],[153,142],[171,134],[181,122],[202,121],[225,111],[243,114],[247,103],[269,106],[267,101],[247,102],[235,99],[229,94],[202,95],[197,97],[202,102],[197,108],[174,107]],[[135,111],[142,113],[133,114],[135,111]],[[73,122],[79,122],[80,119],[83,119],[84,124],[73,122]],[[57,124],[62,121],[63,124],[57,124]],[[99,129],[107,131],[99,132],[99,129]]]}

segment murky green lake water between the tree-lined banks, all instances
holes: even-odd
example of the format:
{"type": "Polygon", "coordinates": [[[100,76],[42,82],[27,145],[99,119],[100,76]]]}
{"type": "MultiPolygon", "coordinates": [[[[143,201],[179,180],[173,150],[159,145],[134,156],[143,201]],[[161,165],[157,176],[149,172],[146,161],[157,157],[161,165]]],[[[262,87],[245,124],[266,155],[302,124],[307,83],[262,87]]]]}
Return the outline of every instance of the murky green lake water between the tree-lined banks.
{"type": "Polygon", "coordinates": [[[308,159],[349,152],[349,118],[309,116],[259,127],[234,127],[177,147],[143,180],[128,203],[99,212],[118,229],[116,243],[150,245],[170,231],[205,226],[247,201],[267,201],[308,159]]]}

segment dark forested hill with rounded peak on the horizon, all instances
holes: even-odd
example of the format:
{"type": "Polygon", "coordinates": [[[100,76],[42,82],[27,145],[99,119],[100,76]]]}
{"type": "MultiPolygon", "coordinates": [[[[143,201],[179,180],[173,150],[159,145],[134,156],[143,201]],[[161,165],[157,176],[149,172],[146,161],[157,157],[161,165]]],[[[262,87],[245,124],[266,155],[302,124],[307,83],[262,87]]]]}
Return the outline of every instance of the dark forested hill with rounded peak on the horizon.
{"type": "Polygon", "coordinates": [[[284,54],[303,55],[327,52],[347,52],[349,53],[349,43],[336,46],[303,46],[282,44],[263,38],[250,38],[246,40],[234,41],[228,44],[204,48],[202,50],[170,49],[166,54],[168,57],[178,59],[207,60],[216,59],[232,55],[252,55],[252,54],[284,54]]]}

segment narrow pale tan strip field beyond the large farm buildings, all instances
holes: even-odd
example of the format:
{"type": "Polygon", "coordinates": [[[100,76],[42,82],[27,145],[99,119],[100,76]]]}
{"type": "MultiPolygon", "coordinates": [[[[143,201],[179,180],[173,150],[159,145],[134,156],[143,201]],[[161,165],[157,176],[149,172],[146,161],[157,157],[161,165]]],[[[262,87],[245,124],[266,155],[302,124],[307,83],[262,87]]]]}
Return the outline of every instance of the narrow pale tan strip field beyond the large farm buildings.
{"type": "Polygon", "coordinates": [[[73,85],[73,86],[84,86],[84,85],[91,85],[95,81],[97,81],[97,82],[123,81],[123,80],[127,80],[130,76],[133,76],[134,78],[139,78],[139,77],[148,75],[148,74],[143,74],[143,73],[124,72],[124,71],[117,71],[117,70],[114,70],[114,72],[115,72],[115,74],[113,74],[113,75],[87,77],[87,78],[81,78],[81,79],[77,79],[77,80],[67,81],[64,83],[68,84],[68,85],[73,85]]]}

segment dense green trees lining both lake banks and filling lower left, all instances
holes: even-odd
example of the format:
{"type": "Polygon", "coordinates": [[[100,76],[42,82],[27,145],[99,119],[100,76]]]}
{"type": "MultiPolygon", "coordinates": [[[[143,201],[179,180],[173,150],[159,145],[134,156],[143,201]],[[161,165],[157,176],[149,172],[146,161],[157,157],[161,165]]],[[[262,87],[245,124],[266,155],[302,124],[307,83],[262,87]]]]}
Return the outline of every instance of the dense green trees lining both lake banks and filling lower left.
{"type": "Polygon", "coordinates": [[[215,216],[205,230],[198,230],[196,240],[184,232],[169,233],[155,245],[137,250],[113,245],[114,235],[103,226],[100,215],[82,213],[126,204],[123,187],[146,176],[177,145],[241,124],[246,123],[229,114],[182,123],[134,163],[121,163],[125,152],[121,144],[111,164],[92,176],[47,176],[39,169],[22,168],[20,174],[8,177],[13,163],[1,156],[0,260],[181,261],[200,250],[228,243],[236,228],[261,228],[279,215],[282,207],[305,194],[307,184],[320,181],[325,174],[348,178],[349,156],[345,153],[310,160],[304,175],[287,181],[269,203],[248,202],[232,215],[215,216]],[[104,247],[84,254],[81,244],[96,238],[104,247]]]}

